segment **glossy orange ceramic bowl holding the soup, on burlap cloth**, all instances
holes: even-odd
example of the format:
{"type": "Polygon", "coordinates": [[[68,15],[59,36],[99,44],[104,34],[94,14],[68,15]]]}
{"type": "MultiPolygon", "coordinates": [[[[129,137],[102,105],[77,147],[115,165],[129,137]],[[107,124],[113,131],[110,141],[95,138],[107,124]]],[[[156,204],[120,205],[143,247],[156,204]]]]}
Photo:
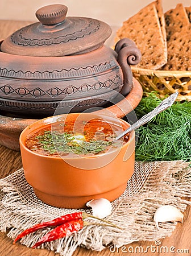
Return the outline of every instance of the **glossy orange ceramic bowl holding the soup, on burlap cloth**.
{"type": "Polygon", "coordinates": [[[57,115],[41,119],[24,129],[20,135],[20,151],[24,175],[34,188],[38,198],[49,205],[61,208],[85,208],[87,201],[104,197],[110,201],[122,195],[127,181],[134,172],[135,133],[122,147],[101,155],[83,158],[61,158],[44,156],[29,150],[26,138],[32,132],[45,128],[50,123],[67,118],[68,121],[89,118],[101,118],[121,125],[129,126],[119,118],[102,114],[82,113],[57,115]]]}

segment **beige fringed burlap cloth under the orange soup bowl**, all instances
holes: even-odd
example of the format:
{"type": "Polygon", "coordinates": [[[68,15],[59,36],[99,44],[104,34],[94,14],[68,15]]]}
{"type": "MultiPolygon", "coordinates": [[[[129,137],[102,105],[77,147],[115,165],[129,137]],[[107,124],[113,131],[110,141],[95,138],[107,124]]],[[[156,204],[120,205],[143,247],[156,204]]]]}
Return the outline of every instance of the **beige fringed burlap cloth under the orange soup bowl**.
{"type": "MultiPolygon", "coordinates": [[[[153,221],[153,214],[161,205],[174,205],[182,212],[191,197],[190,163],[146,162],[135,164],[135,174],[128,182],[127,189],[115,200],[112,214],[107,220],[124,230],[112,227],[91,225],[70,237],[45,243],[46,248],[60,255],[71,256],[77,246],[101,251],[105,246],[115,244],[120,247],[134,241],[156,241],[170,236],[176,222],[159,224],[153,221]]],[[[60,209],[42,203],[36,198],[30,185],[24,179],[23,170],[0,180],[0,230],[14,239],[24,229],[75,210],[60,209]]],[[[85,212],[90,213],[89,209],[85,212]]],[[[31,247],[51,228],[32,233],[20,240],[31,247]]]]}

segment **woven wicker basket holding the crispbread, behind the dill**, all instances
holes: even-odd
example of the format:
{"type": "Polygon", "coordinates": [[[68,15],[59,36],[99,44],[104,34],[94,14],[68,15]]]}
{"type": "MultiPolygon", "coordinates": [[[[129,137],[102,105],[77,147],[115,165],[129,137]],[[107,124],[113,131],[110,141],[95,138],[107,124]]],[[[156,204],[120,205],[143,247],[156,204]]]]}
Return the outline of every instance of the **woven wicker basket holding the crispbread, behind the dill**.
{"type": "Polygon", "coordinates": [[[160,97],[179,92],[177,101],[191,101],[191,71],[160,71],[131,67],[145,92],[155,90],[160,97]]]}

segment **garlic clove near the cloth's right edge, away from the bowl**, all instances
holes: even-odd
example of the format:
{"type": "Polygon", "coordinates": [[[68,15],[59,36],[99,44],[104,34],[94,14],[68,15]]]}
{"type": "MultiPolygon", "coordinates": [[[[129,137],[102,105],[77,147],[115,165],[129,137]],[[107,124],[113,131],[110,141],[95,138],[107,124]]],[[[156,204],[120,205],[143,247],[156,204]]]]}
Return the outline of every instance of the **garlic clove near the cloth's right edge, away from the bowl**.
{"type": "Polygon", "coordinates": [[[156,222],[157,228],[159,228],[159,222],[168,222],[168,221],[183,221],[184,215],[176,207],[172,205],[163,205],[159,207],[154,215],[154,221],[156,222]]]}

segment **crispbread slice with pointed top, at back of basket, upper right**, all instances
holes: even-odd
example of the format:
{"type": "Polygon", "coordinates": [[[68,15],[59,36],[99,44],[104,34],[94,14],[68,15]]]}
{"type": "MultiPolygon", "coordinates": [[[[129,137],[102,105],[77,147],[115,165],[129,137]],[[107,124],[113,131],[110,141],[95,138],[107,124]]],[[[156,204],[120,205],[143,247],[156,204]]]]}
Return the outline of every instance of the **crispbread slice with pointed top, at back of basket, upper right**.
{"type": "Polygon", "coordinates": [[[171,9],[164,14],[167,40],[171,39],[171,36],[182,30],[183,27],[189,25],[188,15],[181,3],[178,3],[175,9],[171,9]]]}

